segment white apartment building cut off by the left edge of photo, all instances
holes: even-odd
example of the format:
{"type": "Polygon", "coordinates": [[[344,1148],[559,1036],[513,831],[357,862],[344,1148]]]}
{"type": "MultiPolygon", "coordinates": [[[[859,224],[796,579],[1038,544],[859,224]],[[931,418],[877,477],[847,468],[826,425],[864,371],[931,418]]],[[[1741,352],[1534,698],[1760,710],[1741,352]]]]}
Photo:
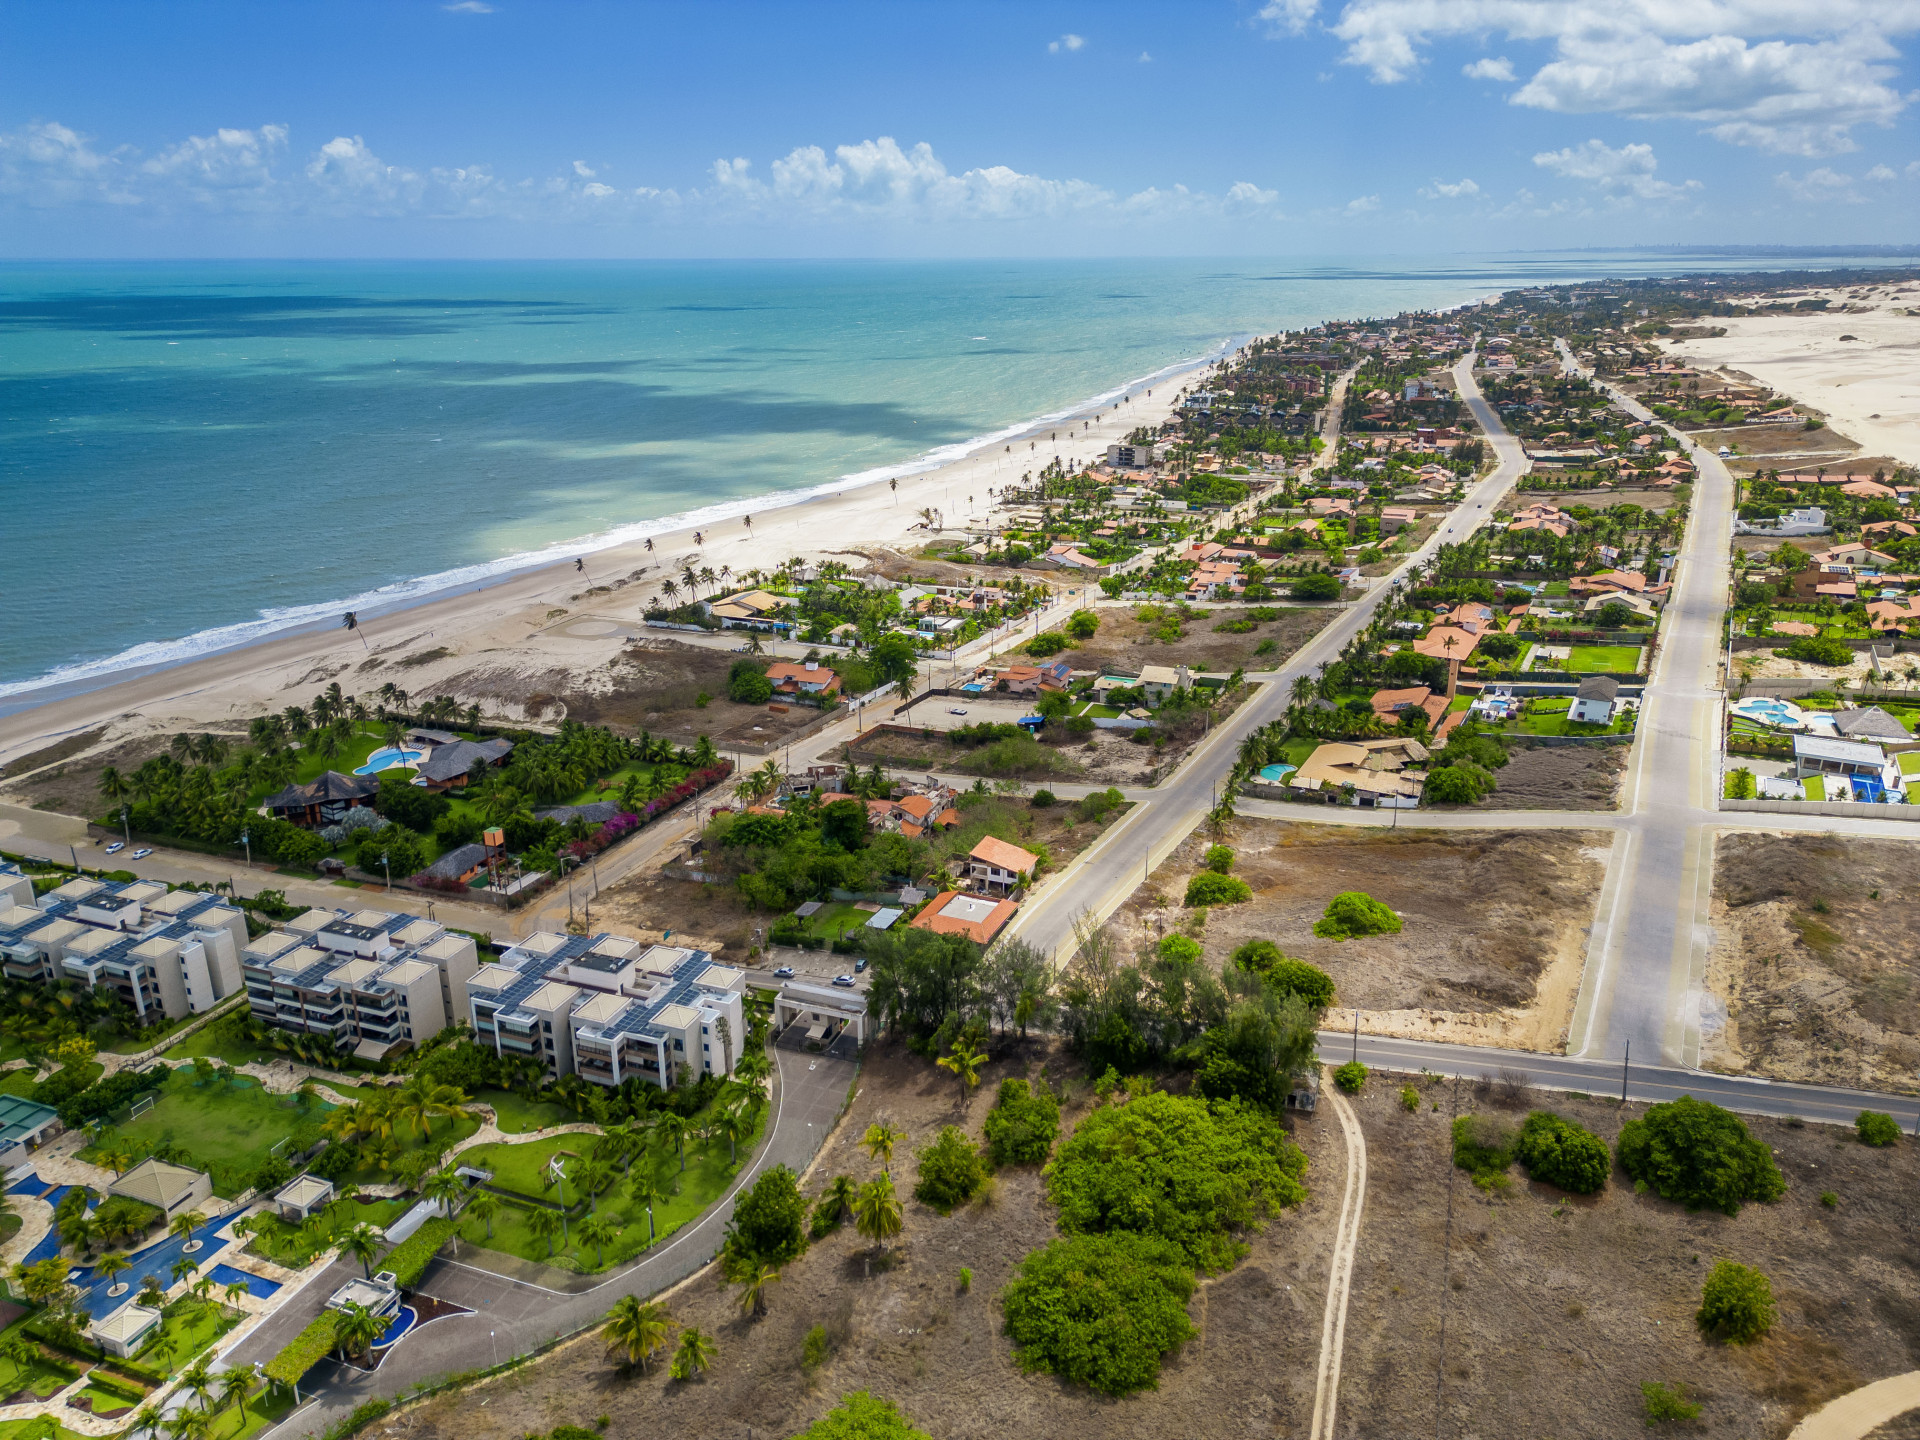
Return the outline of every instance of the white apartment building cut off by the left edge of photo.
{"type": "Polygon", "coordinates": [[[140,1023],[180,1020],[240,989],[246,914],[217,895],[77,876],[33,902],[0,874],[0,973],[109,989],[140,1023]]]}

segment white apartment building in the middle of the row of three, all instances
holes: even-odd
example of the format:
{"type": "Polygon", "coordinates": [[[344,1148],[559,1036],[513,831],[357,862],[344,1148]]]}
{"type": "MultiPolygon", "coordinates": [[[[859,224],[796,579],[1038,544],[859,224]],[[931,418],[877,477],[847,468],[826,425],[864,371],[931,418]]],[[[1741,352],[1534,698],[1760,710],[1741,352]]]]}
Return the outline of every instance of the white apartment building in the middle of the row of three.
{"type": "Polygon", "coordinates": [[[384,1060],[467,1014],[470,935],[386,910],[307,910],[242,952],[255,1020],[384,1060]]]}

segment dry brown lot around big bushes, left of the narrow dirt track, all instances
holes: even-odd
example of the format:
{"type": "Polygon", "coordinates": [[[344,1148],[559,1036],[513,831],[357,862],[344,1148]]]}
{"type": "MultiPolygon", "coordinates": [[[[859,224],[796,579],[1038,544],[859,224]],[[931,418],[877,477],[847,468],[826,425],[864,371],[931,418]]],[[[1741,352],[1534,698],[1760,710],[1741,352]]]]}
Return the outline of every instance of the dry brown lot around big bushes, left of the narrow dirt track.
{"type": "MultiPolygon", "coordinates": [[[[872,1054],[860,1092],[814,1165],[808,1194],[833,1175],[854,1181],[879,1165],[858,1148],[874,1119],[908,1133],[895,1152],[895,1179],[910,1192],[912,1152],[941,1125],[960,1123],[975,1139],[1006,1075],[1039,1073],[1046,1050],[1010,1052],[987,1066],[962,1116],[954,1081],[902,1046],[872,1054]]],[[[1068,1073],[1073,1073],[1071,1069],[1068,1073]]],[[[1062,1079],[1054,1062],[1052,1081],[1062,1079]]],[[[1062,1116],[1062,1131],[1087,1114],[1085,1085],[1062,1116]]],[[[1004,1169],[993,1196],[941,1217],[906,1196],[899,1263],[866,1275],[870,1246],[851,1227],[820,1240],[783,1267],[760,1323],[739,1317],[735,1292],[712,1273],[672,1296],[674,1317],[718,1342],[718,1363],[693,1384],[622,1379],[595,1338],[576,1340],[478,1394],[455,1392],[419,1409],[413,1440],[520,1440],[555,1425],[589,1425],[612,1415],[611,1440],[653,1434],[735,1440],[803,1430],[849,1390],[893,1400],[941,1440],[977,1436],[1283,1436],[1306,1434],[1313,1409],[1313,1367],[1325,1304],[1327,1246],[1340,1208],[1344,1148],[1332,1125],[1298,1125],[1308,1150],[1306,1204],[1252,1233],[1252,1254],[1233,1271],[1204,1279],[1190,1313],[1202,1336],[1173,1356],[1160,1388],[1104,1400],[1046,1375],[1021,1375],[1000,1334],[995,1296],[1027,1252],[1054,1238],[1052,1208],[1037,1169],[1004,1169]],[[973,1271],[970,1292],[958,1273],[973,1271]],[[808,1382],[801,1344],[812,1325],[835,1338],[833,1356],[808,1382]],[[486,1407],[482,1396],[492,1396],[486,1407]]]]}

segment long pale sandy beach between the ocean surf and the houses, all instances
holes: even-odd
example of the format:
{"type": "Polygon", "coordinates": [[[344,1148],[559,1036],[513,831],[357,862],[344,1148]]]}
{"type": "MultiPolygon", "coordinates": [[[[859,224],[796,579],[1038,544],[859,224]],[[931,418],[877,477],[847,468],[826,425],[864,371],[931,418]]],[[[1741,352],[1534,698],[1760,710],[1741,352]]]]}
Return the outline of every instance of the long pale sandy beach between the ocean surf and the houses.
{"type": "MultiPolygon", "coordinates": [[[[605,620],[637,620],[645,605],[660,595],[662,582],[678,580],[687,564],[716,572],[730,566],[735,576],[753,568],[772,570],[795,555],[814,563],[841,557],[858,564],[856,551],[862,549],[924,543],[929,532],[920,513],[925,509],[939,511],[945,532],[966,530],[970,522],[983,526],[989,488],[1018,482],[1021,472],[1039,470],[1056,455],[1096,457],[1137,426],[1160,424],[1183,378],[1162,374],[1117,401],[1089,405],[1012,440],[995,440],[897,484],[876,480],[739,518],[660,532],[653,536],[651,551],[645,541],[634,541],[586,555],[584,572],[570,563],[545,564],[480,588],[426,597],[388,614],[363,612],[359,634],[338,626],[290,632],[148,674],[96,682],[79,693],[48,691],[38,705],[27,693],[13,699],[15,705],[25,701],[23,708],[0,716],[0,764],[100,728],[108,733],[88,749],[142,733],[244,724],[257,714],[305,703],[336,678],[349,693],[397,680],[413,695],[453,693],[463,705],[478,703],[490,718],[522,720],[497,695],[453,682],[470,680],[476,672],[578,680],[605,668],[626,645],[626,626],[605,620]],[[695,528],[701,543],[695,543],[695,528]],[[616,582],[622,584],[612,593],[586,595],[589,586],[616,582]],[[586,612],[601,624],[580,622],[586,612]],[[434,659],[413,659],[426,653],[434,659]],[[376,670],[359,680],[355,672],[374,657],[388,662],[407,659],[409,664],[401,672],[376,670]]],[[[703,499],[687,495],[685,509],[699,509],[703,499]]]]}

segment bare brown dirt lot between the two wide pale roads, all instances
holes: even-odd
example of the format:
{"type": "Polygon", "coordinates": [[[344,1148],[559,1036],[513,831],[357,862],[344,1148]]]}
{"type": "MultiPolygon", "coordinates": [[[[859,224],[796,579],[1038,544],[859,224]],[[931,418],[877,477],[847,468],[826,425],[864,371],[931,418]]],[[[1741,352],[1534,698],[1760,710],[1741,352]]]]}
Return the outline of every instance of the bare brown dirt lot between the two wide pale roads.
{"type": "MultiPolygon", "coordinates": [[[[1338,1004],[1357,1006],[1367,1033],[1559,1050],[1611,835],[1415,826],[1236,820],[1225,843],[1254,899],[1208,912],[1208,960],[1223,966],[1246,941],[1273,941],[1332,975],[1338,1004]],[[1404,929],[1319,939],[1313,922],[1342,891],[1392,906],[1404,929]]],[[[1210,843],[1190,835],[1125,904],[1133,945],[1190,920],[1181,897],[1210,843]]]]}

